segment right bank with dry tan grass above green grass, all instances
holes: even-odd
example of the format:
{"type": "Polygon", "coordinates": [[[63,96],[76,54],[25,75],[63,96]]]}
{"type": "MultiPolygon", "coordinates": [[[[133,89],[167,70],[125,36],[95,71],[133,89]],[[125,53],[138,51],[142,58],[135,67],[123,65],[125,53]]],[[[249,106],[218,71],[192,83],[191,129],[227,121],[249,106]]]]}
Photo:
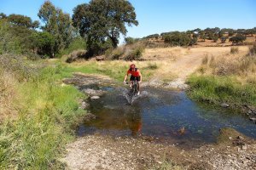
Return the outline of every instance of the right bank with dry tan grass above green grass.
{"type": "Polygon", "coordinates": [[[205,56],[187,82],[192,99],[238,110],[256,120],[256,46],[246,54],[205,56]]]}

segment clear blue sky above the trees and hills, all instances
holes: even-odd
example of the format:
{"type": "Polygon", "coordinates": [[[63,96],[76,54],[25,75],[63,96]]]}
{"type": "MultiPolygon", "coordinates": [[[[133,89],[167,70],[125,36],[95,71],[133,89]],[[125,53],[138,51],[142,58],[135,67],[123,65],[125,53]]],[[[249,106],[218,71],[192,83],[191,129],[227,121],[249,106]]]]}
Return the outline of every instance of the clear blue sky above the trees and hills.
{"type": "MultiPolygon", "coordinates": [[[[73,14],[73,8],[89,0],[52,0],[56,7],[73,14]]],[[[197,27],[253,28],[255,0],[130,0],[139,26],[128,28],[128,37],[145,37],[165,31],[187,31],[197,27]]],[[[0,0],[0,13],[25,14],[38,19],[44,0],[0,0]]]]}

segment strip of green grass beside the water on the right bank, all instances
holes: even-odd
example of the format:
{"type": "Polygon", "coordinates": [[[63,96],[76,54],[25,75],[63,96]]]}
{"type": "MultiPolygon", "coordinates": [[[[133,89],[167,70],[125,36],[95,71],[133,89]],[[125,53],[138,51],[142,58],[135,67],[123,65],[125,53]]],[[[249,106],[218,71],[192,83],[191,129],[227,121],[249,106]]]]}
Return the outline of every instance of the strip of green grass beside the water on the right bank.
{"type": "Polygon", "coordinates": [[[235,77],[195,76],[189,77],[189,96],[200,101],[229,105],[256,106],[255,84],[241,84],[235,77]]]}

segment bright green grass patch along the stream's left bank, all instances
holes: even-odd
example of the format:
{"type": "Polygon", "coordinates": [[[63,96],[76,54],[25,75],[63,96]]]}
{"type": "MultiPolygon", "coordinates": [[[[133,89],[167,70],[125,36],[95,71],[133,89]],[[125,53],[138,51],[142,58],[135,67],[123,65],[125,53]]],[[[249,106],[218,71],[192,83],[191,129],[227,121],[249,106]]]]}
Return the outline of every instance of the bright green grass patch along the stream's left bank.
{"type": "Polygon", "coordinates": [[[73,126],[86,111],[85,98],[73,86],[61,86],[71,76],[67,67],[47,67],[37,77],[16,84],[19,116],[0,126],[0,169],[55,169],[64,144],[73,139],[73,126]]]}

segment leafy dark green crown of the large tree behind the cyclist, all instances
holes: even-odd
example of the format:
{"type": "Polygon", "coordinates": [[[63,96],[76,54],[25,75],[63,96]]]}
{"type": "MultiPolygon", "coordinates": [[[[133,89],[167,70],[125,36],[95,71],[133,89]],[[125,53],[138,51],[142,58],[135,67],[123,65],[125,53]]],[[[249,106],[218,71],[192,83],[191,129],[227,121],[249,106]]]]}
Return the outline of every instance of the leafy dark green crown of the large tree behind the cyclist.
{"type": "Polygon", "coordinates": [[[125,24],[138,25],[134,8],[126,0],[92,0],[73,9],[73,26],[79,29],[82,37],[87,38],[89,51],[92,46],[108,40],[116,48],[119,35],[126,35],[125,24]]]}

